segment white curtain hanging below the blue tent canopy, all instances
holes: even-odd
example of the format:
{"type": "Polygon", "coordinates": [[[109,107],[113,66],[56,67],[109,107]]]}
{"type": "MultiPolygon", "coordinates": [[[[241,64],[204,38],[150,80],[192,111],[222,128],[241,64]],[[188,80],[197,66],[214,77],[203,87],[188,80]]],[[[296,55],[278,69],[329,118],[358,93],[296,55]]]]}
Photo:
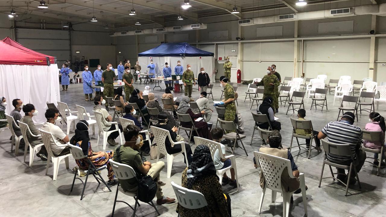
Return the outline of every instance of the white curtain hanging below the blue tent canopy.
{"type": "MultiPolygon", "coordinates": [[[[165,67],[165,63],[169,63],[169,67],[172,69],[172,75],[174,75],[174,67],[177,65],[177,61],[181,61],[181,65],[184,66],[184,70],[186,70],[186,65],[190,64],[191,70],[197,76],[200,73],[200,68],[204,67],[205,71],[209,74],[210,81],[215,81],[215,62],[213,56],[193,56],[193,57],[152,57],[153,63],[156,64],[156,74],[157,76],[163,75],[162,70],[165,67]]],[[[149,72],[149,68],[147,65],[150,64],[150,57],[141,56],[138,57],[139,64],[142,67],[141,73],[149,72]]]]}

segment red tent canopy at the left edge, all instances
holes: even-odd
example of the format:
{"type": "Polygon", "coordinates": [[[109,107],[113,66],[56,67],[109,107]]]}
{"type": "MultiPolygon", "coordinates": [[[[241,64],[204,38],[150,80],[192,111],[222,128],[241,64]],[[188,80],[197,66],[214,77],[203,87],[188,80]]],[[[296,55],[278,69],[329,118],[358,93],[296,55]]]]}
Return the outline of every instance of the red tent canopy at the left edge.
{"type": "Polygon", "coordinates": [[[56,57],[48,56],[6,37],[0,41],[0,64],[47,66],[56,63],[56,57]]]}

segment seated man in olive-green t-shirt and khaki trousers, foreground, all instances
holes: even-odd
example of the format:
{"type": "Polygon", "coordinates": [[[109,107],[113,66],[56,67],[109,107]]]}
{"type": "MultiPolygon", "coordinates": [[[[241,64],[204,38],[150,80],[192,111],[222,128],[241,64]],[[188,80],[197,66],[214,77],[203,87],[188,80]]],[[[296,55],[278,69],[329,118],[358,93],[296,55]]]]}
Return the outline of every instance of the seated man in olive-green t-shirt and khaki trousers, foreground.
{"type": "MultiPolygon", "coordinates": [[[[142,145],[142,139],[139,135],[139,127],[135,125],[127,125],[124,130],[125,144],[118,146],[114,151],[114,161],[127,164],[131,166],[135,173],[140,176],[149,175],[157,183],[157,204],[161,205],[164,203],[174,203],[175,198],[169,198],[164,195],[162,192],[161,186],[166,185],[166,183],[159,180],[159,173],[165,167],[163,161],[158,161],[157,163],[150,163],[149,161],[142,162],[141,155],[135,149],[139,149],[142,145]]],[[[118,179],[120,186],[127,191],[137,192],[138,184],[136,178],[120,180],[118,179]]]]}

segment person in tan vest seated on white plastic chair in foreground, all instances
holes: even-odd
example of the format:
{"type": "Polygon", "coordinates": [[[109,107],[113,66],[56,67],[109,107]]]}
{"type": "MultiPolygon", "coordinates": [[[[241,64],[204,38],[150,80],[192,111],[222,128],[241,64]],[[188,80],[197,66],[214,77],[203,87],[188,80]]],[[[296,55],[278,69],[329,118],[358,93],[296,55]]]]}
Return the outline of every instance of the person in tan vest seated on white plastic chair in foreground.
{"type": "MultiPolygon", "coordinates": [[[[291,152],[288,149],[280,149],[281,145],[281,135],[280,132],[277,130],[273,130],[269,133],[267,143],[269,144],[269,147],[261,147],[259,149],[259,152],[264,154],[270,154],[273,156],[278,156],[280,158],[289,159],[291,161],[291,168],[284,168],[283,172],[281,173],[281,184],[283,185],[286,192],[293,192],[298,194],[301,193],[300,190],[300,181],[299,181],[299,170],[298,167],[295,164],[295,161],[292,157],[291,152]],[[288,176],[288,169],[292,170],[293,176],[296,178],[289,178],[288,176]]],[[[256,167],[256,159],[253,158],[253,162],[256,167]]],[[[264,188],[264,185],[266,185],[263,177],[262,171],[260,172],[260,186],[261,188],[264,188]]],[[[307,190],[307,186],[306,186],[307,190]]],[[[291,196],[291,203],[293,203],[293,198],[291,196]]]]}

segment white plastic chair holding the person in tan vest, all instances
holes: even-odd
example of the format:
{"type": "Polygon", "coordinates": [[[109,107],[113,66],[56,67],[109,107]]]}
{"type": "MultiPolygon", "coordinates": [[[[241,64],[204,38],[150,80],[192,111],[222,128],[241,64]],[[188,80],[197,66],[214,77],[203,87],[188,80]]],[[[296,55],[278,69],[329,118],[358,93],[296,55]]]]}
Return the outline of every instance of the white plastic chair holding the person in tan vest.
{"type": "MultiPolygon", "coordinates": [[[[291,196],[293,192],[286,192],[281,185],[281,175],[283,173],[284,168],[287,168],[289,178],[295,178],[292,174],[291,170],[291,161],[289,159],[280,158],[277,156],[264,154],[258,151],[253,152],[256,163],[259,162],[261,167],[261,172],[264,176],[265,185],[262,189],[260,206],[259,206],[259,214],[261,212],[261,207],[263,204],[264,196],[266,189],[269,188],[272,190],[272,202],[276,201],[276,193],[279,192],[283,195],[283,216],[288,217],[289,215],[289,203],[291,201],[291,196]]],[[[305,215],[307,215],[307,196],[306,196],[306,185],[304,180],[304,174],[300,173],[300,189],[301,195],[303,197],[303,206],[305,215]]]]}

